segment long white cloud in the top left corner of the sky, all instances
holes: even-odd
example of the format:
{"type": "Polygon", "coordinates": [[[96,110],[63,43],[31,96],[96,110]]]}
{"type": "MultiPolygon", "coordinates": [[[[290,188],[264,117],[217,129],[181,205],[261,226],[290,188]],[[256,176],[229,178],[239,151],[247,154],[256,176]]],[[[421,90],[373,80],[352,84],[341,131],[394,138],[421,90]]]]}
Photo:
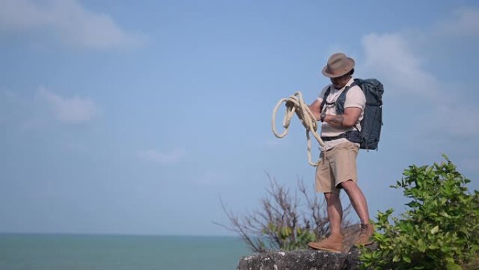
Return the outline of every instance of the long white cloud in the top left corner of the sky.
{"type": "Polygon", "coordinates": [[[120,29],[106,14],[83,8],[76,0],[0,0],[0,29],[48,30],[80,48],[139,46],[144,36],[120,29]]]}

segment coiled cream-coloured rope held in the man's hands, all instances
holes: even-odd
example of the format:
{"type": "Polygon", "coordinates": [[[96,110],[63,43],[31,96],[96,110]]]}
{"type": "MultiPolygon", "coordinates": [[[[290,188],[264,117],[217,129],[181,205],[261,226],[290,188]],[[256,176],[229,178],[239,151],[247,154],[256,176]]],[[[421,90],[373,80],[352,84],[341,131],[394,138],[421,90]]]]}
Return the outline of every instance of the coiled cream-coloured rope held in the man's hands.
{"type": "Polygon", "coordinates": [[[272,113],[272,120],[271,120],[271,126],[272,126],[272,132],[275,134],[276,137],[282,138],[288,134],[289,130],[289,124],[291,123],[291,119],[293,118],[293,114],[296,112],[296,115],[300,119],[301,123],[303,123],[303,126],[306,128],[306,138],[307,138],[307,161],[310,163],[311,166],[318,166],[319,161],[316,163],[312,162],[312,157],[311,157],[311,138],[310,138],[310,132],[316,138],[316,140],[319,142],[319,145],[321,147],[324,147],[324,142],[321,140],[321,136],[317,133],[318,130],[318,121],[314,118],[314,115],[312,114],[310,107],[307,106],[305,101],[303,100],[303,94],[301,92],[296,92],[294,95],[291,95],[288,98],[282,98],[279,100],[278,104],[276,104],[275,109],[273,109],[272,113]],[[283,127],[284,131],[283,133],[279,134],[276,130],[275,123],[276,123],[276,114],[281,106],[281,104],[285,102],[286,104],[292,104],[292,106],[286,106],[286,113],[284,114],[284,119],[283,119],[283,127]]]}

